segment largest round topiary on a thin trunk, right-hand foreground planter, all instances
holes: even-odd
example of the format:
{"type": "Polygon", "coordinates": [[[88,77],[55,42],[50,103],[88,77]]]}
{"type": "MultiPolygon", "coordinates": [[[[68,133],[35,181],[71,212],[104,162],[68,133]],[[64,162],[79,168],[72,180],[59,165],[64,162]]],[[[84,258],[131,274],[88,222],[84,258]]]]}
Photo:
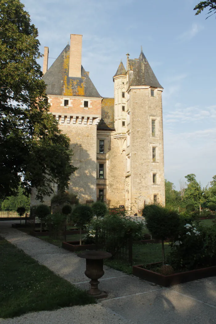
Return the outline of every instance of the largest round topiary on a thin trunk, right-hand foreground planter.
{"type": "Polygon", "coordinates": [[[162,241],[163,265],[165,263],[164,240],[176,235],[180,226],[180,217],[176,211],[168,210],[159,205],[150,204],[142,211],[145,217],[146,227],[156,239],[162,241]]]}

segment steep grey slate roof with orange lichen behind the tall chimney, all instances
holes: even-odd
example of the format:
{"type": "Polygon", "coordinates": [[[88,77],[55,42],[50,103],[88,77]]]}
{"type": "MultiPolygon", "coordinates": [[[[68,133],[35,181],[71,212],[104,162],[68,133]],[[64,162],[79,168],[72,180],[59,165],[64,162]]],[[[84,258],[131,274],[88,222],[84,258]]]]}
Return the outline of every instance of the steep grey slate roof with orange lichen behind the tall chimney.
{"type": "Polygon", "coordinates": [[[67,44],[42,79],[47,95],[102,98],[81,65],[81,78],[69,77],[70,45],[67,44]]]}

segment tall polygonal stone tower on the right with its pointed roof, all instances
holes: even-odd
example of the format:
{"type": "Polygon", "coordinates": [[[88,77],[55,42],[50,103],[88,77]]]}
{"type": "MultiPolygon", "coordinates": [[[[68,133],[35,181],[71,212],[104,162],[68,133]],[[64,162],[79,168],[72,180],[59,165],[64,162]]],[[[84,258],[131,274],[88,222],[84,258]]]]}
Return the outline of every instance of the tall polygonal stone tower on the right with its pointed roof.
{"type": "Polygon", "coordinates": [[[138,212],[144,202],[165,203],[162,91],[142,50],[127,54],[127,148],[125,205],[138,212]]]}

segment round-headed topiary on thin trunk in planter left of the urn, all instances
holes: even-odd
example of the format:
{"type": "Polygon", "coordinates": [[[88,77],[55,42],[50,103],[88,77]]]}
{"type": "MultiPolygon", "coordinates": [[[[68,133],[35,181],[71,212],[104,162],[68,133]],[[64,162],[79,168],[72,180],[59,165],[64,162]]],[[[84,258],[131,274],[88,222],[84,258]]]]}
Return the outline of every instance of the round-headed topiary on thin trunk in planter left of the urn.
{"type": "Polygon", "coordinates": [[[80,229],[80,245],[82,244],[82,229],[90,222],[92,217],[93,210],[87,205],[77,205],[71,214],[71,220],[80,229]]]}

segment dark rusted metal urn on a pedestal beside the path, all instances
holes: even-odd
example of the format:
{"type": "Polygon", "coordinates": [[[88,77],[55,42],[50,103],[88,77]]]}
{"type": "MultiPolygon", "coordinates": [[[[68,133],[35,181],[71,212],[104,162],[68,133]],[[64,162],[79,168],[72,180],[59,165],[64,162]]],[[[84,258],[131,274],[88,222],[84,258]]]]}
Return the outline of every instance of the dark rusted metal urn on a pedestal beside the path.
{"type": "Polygon", "coordinates": [[[108,294],[98,289],[98,279],[104,275],[103,260],[111,258],[112,254],[106,251],[85,251],[77,256],[86,259],[85,275],[91,279],[88,294],[95,298],[106,298],[108,294]]]}

